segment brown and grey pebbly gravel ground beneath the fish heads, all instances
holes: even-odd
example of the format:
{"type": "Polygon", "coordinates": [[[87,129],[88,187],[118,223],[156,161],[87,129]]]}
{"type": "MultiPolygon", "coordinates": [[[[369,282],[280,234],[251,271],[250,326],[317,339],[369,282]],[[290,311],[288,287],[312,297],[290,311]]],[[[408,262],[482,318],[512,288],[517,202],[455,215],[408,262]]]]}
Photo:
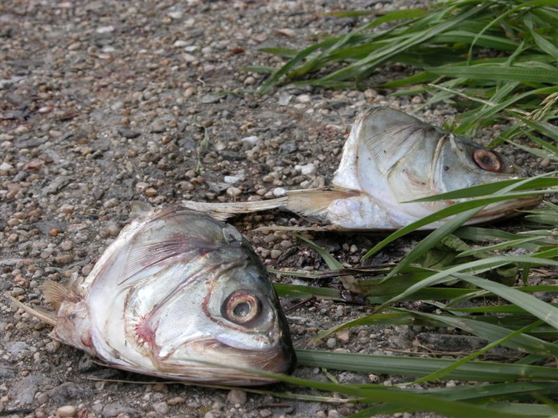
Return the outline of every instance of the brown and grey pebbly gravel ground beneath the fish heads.
{"type": "MultiPolygon", "coordinates": [[[[39,285],[45,279],[88,274],[126,224],[132,201],[153,206],[185,199],[235,201],[327,184],[357,113],[386,104],[413,113],[423,98],[392,99],[372,89],[283,88],[258,96],[253,90],[263,78],[241,68],[283,62],[259,52],[263,46],[306,46],[318,34],[347,32],[364,22],[322,12],[396,6],[2,0],[0,291],[41,305],[39,285]],[[203,141],[205,129],[209,144],[203,141]]],[[[398,71],[404,68],[385,68],[375,77],[387,80],[398,71]]],[[[451,122],[454,110],[443,105],[417,114],[440,125],[451,122]]],[[[481,141],[496,130],[485,132],[481,141]]],[[[515,157],[535,167],[541,163],[515,157]]],[[[270,222],[301,220],[288,213],[234,220],[266,265],[323,267],[291,234],[252,232],[270,222]]],[[[378,241],[350,234],[314,238],[348,265],[378,241]]],[[[391,248],[373,262],[393,260],[406,249],[391,248]]],[[[283,302],[288,308],[297,301],[283,302]]],[[[6,298],[0,298],[0,310],[0,412],[9,417],[335,418],[359,408],[166,384],[106,369],[52,341],[49,327],[6,298]]],[[[370,309],[318,301],[288,310],[287,316],[295,346],[304,348],[318,331],[366,312],[370,309]]],[[[423,331],[356,329],[320,348],[387,354],[419,346],[447,348],[423,331]]],[[[326,379],[320,370],[305,367],[295,375],[326,379]]],[[[393,376],[350,373],[337,379],[397,383],[393,376]]],[[[273,389],[286,388],[297,390],[273,389]]]]}

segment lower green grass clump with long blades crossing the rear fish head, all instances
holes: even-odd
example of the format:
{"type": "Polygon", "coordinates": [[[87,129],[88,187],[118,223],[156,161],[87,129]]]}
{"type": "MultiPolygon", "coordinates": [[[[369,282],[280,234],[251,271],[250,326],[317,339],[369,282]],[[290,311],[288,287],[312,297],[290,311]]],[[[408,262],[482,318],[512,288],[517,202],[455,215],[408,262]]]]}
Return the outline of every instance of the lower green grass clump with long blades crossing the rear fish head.
{"type": "MultiPolygon", "coordinates": [[[[513,198],[517,190],[547,194],[558,191],[558,182],[552,174],[504,183],[494,184],[492,187],[496,191],[491,196],[513,198]]],[[[492,201],[490,197],[478,196],[476,188],[469,193],[463,189],[452,194],[454,197],[476,196],[473,202],[488,204],[492,201]]],[[[476,210],[478,205],[473,203],[473,206],[476,210]]],[[[323,248],[299,236],[321,255],[330,270],[274,270],[278,274],[316,280],[313,286],[276,284],[275,287],[281,297],[336,301],[346,300],[343,293],[350,291],[364,298],[359,303],[376,305],[370,315],[321,331],[314,338],[316,343],[354,327],[407,325],[435,329],[450,327],[460,333],[483,338],[485,346],[471,353],[445,353],[443,358],[438,358],[435,353],[426,355],[420,352],[373,355],[301,349],[297,350],[299,365],[320,367],[331,383],[324,386],[323,383],[293,377],[280,380],[337,393],[335,402],[342,400],[344,403],[368,405],[353,414],[353,418],[416,411],[430,411],[448,417],[556,416],[558,304],[548,299],[541,300],[540,295],[558,293],[558,207],[545,202],[542,208],[529,211],[521,222],[521,232],[516,233],[490,227],[461,227],[460,224],[471,215],[471,208],[469,205],[454,205],[452,208],[451,213],[442,214],[452,216],[447,228],[437,229],[423,238],[397,265],[391,267],[343,267],[323,248]],[[421,265],[424,258],[420,255],[428,254],[435,243],[449,237],[459,237],[477,245],[450,258],[448,265],[421,265]],[[502,253],[502,250],[512,253],[502,253]],[[483,257],[460,261],[461,258],[469,259],[471,254],[482,254],[483,257]],[[483,273],[504,266],[514,266],[515,278],[519,281],[502,284],[483,277],[483,273]],[[319,279],[335,276],[339,277],[345,290],[319,285],[319,279]],[[540,283],[531,284],[533,277],[538,277],[540,283]],[[545,277],[550,280],[545,281],[545,277]],[[407,308],[417,300],[435,309],[423,312],[407,308]],[[498,357],[490,354],[490,350],[499,346],[513,350],[515,355],[498,357]],[[330,373],[331,370],[403,376],[403,382],[394,387],[340,384],[330,373]],[[444,386],[440,379],[452,379],[461,384],[440,388],[440,384],[444,386]],[[428,382],[434,383],[435,388],[417,386],[428,382]],[[341,400],[339,394],[342,394],[341,400]]],[[[414,232],[425,222],[428,219],[401,231],[414,232]]],[[[387,236],[364,257],[399,238],[401,231],[387,236]]],[[[285,393],[273,395],[285,397],[285,393]]],[[[288,396],[297,398],[305,395],[288,396]]],[[[334,402],[333,399],[333,395],[324,395],[309,400],[334,402]]]]}

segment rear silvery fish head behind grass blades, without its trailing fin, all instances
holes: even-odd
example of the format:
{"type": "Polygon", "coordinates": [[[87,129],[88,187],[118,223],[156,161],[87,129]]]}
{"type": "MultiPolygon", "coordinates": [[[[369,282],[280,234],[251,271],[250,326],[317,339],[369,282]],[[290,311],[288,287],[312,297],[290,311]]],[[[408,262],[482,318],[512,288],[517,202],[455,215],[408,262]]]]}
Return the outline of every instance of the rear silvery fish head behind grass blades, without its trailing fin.
{"type": "MultiPolygon", "coordinates": [[[[382,107],[369,110],[355,122],[333,184],[368,196],[389,220],[385,225],[389,229],[455,203],[406,202],[525,175],[501,153],[382,107]]],[[[514,215],[539,202],[538,197],[528,197],[494,203],[469,223],[514,215]]]]}

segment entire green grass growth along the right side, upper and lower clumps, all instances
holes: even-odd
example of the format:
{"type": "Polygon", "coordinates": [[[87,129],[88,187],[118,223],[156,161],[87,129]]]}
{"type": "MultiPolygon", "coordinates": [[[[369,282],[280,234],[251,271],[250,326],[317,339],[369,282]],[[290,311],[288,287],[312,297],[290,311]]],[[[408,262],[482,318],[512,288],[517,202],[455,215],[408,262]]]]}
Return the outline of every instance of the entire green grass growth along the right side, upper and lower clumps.
{"type": "MultiPolygon", "coordinates": [[[[354,17],[374,13],[330,14],[354,17]]],[[[454,133],[473,135],[484,125],[502,123],[507,127],[492,145],[507,141],[552,165],[558,161],[557,45],[555,0],[451,0],[373,15],[369,23],[347,34],[328,34],[301,50],[263,49],[287,62],[279,69],[249,70],[270,74],[261,93],[294,84],[375,87],[399,96],[423,94],[428,97],[424,106],[445,102],[461,110],[457,124],[450,127],[454,133]],[[385,67],[394,64],[403,64],[406,75],[378,82],[385,67]]],[[[313,286],[276,284],[280,296],[342,303],[348,292],[352,303],[358,300],[375,306],[371,315],[323,330],[314,341],[353,327],[424,325],[451,327],[487,342],[466,355],[445,358],[425,353],[378,356],[297,350],[300,365],[321,367],[330,382],[292,376],[279,379],[330,394],[273,395],[365,404],[354,418],[416,411],[451,417],[557,416],[558,206],[552,203],[557,191],[558,179],[551,172],[428,198],[469,200],[394,232],[364,255],[371,257],[419,227],[448,218],[445,226],[421,239],[393,266],[345,268],[323,248],[308,242],[329,270],[273,271],[315,281],[313,286]],[[514,232],[461,226],[485,205],[528,194],[551,198],[528,211],[514,232]],[[425,263],[430,252],[448,240],[458,245],[444,259],[445,264],[425,263]],[[498,269],[507,272],[512,281],[491,280],[490,274],[498,269]],[[339,277],[343,290],[319,284],[320,279],[333,276],[339,277]],[[544,300],[541,294],[546,295],[544,300]],[[409,309],[416,301],[433,307],[432,312],[409,309]],[[516,350],[516,357],[487,357],[497,346],[516,350]],[[404,383],[391,388],[340,384],[328,369],[404,376],[404,383]],[[440,379],[462,385],[416,386],[426,382],[439,385],[440,379]]]]}

